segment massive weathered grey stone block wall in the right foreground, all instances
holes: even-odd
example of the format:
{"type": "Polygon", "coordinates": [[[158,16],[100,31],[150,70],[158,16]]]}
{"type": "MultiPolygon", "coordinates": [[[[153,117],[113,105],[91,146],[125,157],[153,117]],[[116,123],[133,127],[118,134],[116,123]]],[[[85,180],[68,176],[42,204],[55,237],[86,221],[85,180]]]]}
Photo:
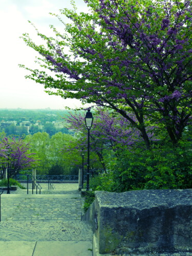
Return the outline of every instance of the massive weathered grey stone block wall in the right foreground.
{"type": "Polygon", "coordinates": [[[99,253],[192,255],[192,189],[96,191],[95,197],[83,220],[93,225],[99,253]]]}

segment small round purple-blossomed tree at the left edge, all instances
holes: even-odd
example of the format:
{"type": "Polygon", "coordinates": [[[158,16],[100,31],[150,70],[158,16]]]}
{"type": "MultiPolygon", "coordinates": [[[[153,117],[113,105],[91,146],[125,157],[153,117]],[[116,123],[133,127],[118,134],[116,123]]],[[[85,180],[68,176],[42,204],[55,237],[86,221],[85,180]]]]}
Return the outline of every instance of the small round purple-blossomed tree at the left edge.
{"type": "MultiPolygon", "coordinates": [[[[9,167],[10,176],[19,170],[29,168],[35,163],[34,154],[29,153],[30,145],[22,139],[4,137],[0,141],[0,166],[2,177],[9,167]]],[[[1,178],[2,178],[1,177],[1,178]]]]}

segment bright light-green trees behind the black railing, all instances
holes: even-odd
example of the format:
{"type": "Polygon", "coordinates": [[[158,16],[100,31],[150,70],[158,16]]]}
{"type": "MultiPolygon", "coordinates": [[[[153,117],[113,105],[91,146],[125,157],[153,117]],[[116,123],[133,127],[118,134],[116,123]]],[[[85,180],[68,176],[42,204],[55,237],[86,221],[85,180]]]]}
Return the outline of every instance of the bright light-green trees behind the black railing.
{"type": "Polygon", "coordinates": [[[72,135],[59,132],[50,137],[46,132],[38,132],[27,135],[25,140],[31,145],[31,153],[35,153],[39,160],[39,165],[36,166],[37,174],[77,173],[77,165],[81,163],[81,157],[75,149],[73,152],[68,151],[72,144],[76,144],[76,139],[72,135]]]}

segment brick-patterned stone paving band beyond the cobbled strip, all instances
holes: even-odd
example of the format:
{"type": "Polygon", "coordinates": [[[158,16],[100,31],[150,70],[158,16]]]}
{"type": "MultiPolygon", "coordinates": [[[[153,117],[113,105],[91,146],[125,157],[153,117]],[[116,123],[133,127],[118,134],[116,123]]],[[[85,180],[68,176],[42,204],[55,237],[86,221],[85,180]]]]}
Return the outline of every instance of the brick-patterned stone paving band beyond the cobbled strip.
{"type": "Polygon", "coordinates": [[[2,221],[80,221],[84,199],[79,194],[2,195],[2,221]]]}

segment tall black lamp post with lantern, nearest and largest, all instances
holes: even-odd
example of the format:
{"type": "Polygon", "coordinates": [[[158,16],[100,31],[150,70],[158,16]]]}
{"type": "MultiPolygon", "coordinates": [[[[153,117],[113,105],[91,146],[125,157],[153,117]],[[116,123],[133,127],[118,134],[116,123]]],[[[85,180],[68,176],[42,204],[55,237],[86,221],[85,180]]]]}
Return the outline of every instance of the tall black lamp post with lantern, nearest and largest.
{"type": "Polygon", "coordinates": [[[84,120],[86,121],[86,127],[88,130],[88,164],[87,164],[87,187],[86,190],[89,191],[89,172],[90,172],[90,130],[91,130],[91,126],[93,124],[93,115],[90,112],[90,110],[88,110],[88,112],[86,113],[86,117],[84,118],[84,120]]]}

